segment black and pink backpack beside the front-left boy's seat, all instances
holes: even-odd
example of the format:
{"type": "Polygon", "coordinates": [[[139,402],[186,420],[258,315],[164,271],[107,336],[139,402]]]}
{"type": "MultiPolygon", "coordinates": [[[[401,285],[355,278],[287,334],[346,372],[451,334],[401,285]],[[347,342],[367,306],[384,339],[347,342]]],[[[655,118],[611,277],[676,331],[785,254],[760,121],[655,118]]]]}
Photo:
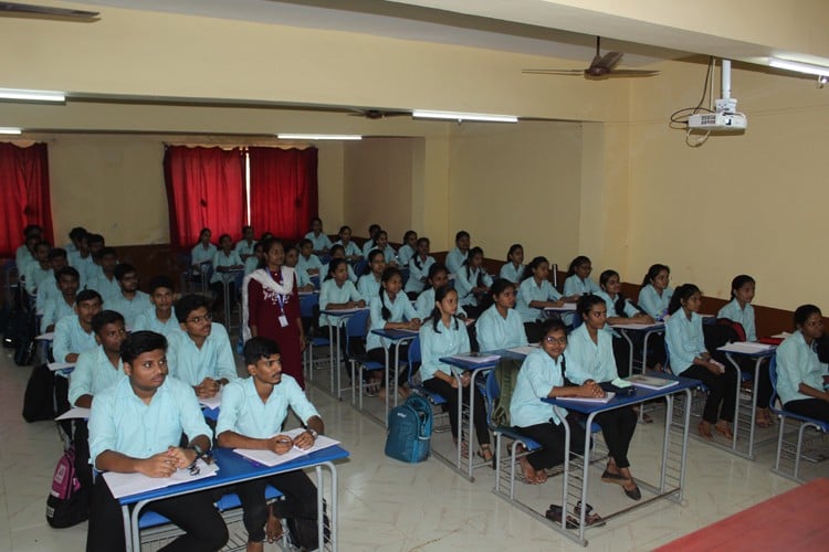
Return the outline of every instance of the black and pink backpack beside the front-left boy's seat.
{"type": "Polygon", "coordinates": [[[46,498],[46,521],[61,529],[76,526],[90,517],[88,491],[75,473],[75,447],[70,446],[57,460],[52,490],[46,498]]]}

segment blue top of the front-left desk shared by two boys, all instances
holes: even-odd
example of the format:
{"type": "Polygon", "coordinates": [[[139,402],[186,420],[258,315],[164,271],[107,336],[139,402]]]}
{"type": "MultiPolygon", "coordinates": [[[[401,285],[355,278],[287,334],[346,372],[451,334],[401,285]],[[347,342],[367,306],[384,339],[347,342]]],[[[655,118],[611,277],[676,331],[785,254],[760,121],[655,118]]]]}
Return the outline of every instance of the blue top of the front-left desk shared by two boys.
{"type": "Polygon", "coordinates": [[[339,445],[335,445],[328,448],[323,448],[322,450],[316,450],[295,460],[280,464],[279,466],[266,467],[238,455],[231,448],[217,447],[213,449],[213,459],[219,465],[219,471],[217,471],[214,476],[197,479],[192,482],[171,485],[161,489],[154,489],[137,495],[130,495],[128,497],[122,497],[118,499],[118,502],[122,506],[133,505],[140,502],[141,500],[155,500],[182,492],[196,492],[202,489],[223,487],[249,479],[255,479],[256,477],[293,471],[295,469],[307,468],[325,461],[334,461],[347,457],[348,450],[339,445]]]}

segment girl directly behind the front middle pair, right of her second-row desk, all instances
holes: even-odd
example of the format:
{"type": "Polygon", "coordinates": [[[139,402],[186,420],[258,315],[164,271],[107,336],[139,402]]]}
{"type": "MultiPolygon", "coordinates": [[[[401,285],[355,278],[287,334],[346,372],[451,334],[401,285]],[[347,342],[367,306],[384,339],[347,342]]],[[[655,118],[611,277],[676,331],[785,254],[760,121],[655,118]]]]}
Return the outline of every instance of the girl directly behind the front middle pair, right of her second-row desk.
{"type": "Polygon", "coordinates": [[[492,284],[492,307],[475,321],[482,351],[495,351],[527,344],[524,325],[515,307],[515,284],[499,278],[492,284]]]}

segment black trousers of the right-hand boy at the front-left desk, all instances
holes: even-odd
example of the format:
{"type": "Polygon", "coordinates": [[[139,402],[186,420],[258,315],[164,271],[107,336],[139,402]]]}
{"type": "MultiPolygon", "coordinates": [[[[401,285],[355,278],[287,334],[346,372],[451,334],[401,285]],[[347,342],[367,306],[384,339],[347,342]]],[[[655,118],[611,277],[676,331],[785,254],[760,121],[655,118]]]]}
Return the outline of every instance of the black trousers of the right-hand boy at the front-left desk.
{"type": "Polygon", "coordinates": [[[316,486],[305,471],[296,470],[277,474],[265,479],[254,479],[237,485],[237,495],[242,502],[244,513],[242,521],[248,530],[249,542],[261,542],[265,539],[267,521],[267,502],[265,486],[272,485],[282,491],[284,500],[273,506],[277,518],[317,519],[316,486]]]}

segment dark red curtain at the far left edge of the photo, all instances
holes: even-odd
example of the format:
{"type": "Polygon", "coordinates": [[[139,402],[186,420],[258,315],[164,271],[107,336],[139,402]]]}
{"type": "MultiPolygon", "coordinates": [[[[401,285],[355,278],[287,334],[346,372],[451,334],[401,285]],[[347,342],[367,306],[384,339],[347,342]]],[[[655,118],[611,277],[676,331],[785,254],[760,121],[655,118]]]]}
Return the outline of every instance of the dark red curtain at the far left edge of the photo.
{"type": "Polygon", "coordinates": [[[46,145],[0,144],[0,257],[14,256],[28,224],[43,227],[43,238],[52,242],[46,145]]]}

